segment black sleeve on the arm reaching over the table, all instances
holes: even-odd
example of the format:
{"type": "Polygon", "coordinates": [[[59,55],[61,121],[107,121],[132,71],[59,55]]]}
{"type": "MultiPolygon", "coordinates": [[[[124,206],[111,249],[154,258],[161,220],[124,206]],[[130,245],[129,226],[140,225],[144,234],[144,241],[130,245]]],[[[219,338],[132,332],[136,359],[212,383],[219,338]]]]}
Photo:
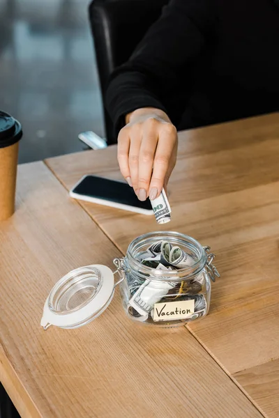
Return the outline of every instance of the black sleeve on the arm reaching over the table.
{"type": "Polygon", "coordinates": [[[140,107],[162,109],[172,119],[167,98],[177,90],[181,77],[185,82],[187,68],[201,53],[214,18],[213,0],[172,0],[163,8],[129,61],[110,79],[105,104],[116,134],[124,116],[140,107]]]}

